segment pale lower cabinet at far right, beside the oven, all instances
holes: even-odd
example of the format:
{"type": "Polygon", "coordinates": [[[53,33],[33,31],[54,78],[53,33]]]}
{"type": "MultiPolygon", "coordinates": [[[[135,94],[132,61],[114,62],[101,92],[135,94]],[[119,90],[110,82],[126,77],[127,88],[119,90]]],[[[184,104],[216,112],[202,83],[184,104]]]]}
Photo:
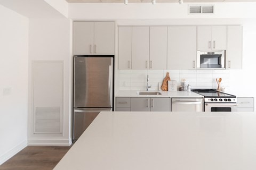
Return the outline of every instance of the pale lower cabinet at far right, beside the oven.
{"type": "Polygon", "coordinates": [[[254,112],[254,98],[253,97],[237,97],[237,111],[238,112],[254,112]]]}

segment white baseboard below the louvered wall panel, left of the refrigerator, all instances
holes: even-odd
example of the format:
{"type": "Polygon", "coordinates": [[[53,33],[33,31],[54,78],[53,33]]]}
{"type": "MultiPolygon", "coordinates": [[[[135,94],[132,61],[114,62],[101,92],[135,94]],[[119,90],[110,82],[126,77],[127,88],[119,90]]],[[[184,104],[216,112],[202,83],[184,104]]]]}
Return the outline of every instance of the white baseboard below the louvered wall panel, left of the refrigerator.
{"type": "Polygon", "coordinates": [[[29,139],[28,146],[70,146],[72,139],[29,139]]]}

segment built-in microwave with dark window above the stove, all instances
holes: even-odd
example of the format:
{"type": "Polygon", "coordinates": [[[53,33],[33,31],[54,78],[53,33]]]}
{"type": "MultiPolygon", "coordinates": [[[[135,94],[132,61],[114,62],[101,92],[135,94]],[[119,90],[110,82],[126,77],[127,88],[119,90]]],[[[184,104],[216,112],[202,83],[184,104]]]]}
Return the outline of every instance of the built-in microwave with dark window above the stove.
{"type": "Polygon", "coordinates": [[[197,69],[226,69],[225,50],[198,50],[197,69]]]}

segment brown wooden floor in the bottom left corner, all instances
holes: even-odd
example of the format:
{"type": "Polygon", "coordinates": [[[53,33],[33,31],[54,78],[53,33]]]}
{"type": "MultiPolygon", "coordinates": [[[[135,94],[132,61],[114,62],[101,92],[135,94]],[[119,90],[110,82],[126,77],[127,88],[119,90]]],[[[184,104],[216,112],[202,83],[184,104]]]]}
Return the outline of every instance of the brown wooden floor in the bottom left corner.
{"type": "Polygon", "coordinates": [[[28,146],[0,166],[0,170],[52,170],[71,147],[28,146]]]}

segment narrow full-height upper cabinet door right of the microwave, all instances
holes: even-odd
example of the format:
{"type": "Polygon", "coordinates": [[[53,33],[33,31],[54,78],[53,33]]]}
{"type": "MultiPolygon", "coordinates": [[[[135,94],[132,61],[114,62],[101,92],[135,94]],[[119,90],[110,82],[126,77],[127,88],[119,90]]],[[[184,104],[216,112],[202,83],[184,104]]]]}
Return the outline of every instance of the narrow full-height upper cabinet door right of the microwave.
{"type": "Polygon", "coordinates": [[[243,27],[227,28],[227,69],[242,69],[243,27]]]}

